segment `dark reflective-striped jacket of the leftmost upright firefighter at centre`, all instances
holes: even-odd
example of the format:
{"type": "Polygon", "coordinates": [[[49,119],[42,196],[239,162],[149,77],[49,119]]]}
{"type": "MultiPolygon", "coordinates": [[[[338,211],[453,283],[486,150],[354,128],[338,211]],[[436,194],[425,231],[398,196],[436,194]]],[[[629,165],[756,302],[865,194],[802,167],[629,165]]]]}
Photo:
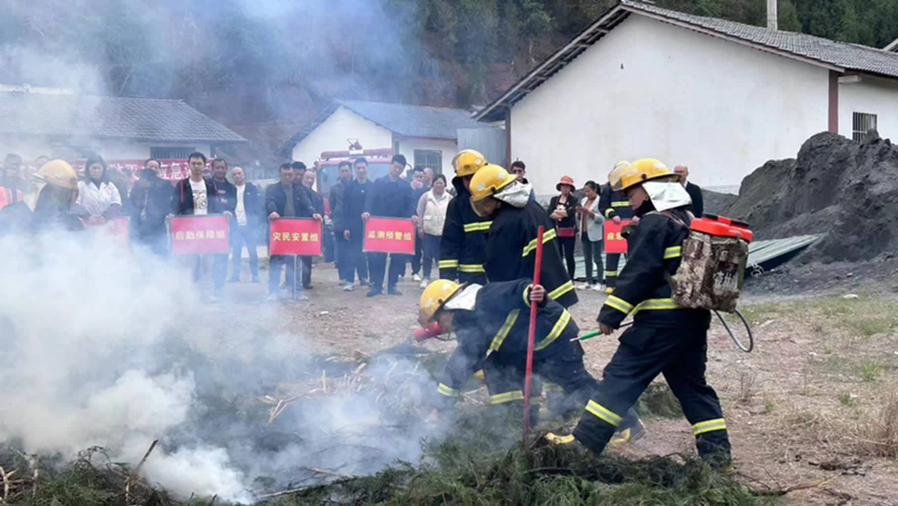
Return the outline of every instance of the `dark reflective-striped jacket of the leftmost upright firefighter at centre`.
{"type": "MultiPolygon", "coordinates": [[[[440,239],[440,278],[457,280],[461,274],[482,274],[487,258],[489,217],[479,217],[471,208],[471,192],[462,178],[452,180],[455,197],[446,208],[443,237],[440,239]]],[[[462,275],[462,280],[464,276],[462,275]]]]}

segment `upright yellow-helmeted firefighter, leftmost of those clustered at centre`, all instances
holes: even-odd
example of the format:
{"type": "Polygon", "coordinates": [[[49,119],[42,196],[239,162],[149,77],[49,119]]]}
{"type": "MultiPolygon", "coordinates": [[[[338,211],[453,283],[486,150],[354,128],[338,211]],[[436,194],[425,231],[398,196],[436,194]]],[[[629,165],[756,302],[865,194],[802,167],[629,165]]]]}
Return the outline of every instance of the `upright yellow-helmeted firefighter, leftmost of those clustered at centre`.
{"type": "Polygon", "coordinates": [[[462,283],[485,284],[487,274],[483,262],[487,254],[489,218],[479,217],[471,209],[468,184],[486,159],[473,149],[464,149],[452,161],[455,197],[446,209],[443,237],[440,239],[440,278],[462,283]]]}

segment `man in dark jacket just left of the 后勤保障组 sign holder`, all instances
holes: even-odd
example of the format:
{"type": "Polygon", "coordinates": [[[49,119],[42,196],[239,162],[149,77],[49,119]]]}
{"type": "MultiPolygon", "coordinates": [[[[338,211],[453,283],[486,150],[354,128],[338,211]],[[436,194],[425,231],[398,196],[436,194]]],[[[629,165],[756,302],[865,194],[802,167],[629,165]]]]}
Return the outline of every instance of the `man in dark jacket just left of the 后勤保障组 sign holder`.
{"type": "Polygon", "coordinates": [[[131,228],[137,241],[155,254],[168,253],[165,215],[172,208],[172,182],[159,177],[159,160],[148,158],[131,189],[131,228]]]}

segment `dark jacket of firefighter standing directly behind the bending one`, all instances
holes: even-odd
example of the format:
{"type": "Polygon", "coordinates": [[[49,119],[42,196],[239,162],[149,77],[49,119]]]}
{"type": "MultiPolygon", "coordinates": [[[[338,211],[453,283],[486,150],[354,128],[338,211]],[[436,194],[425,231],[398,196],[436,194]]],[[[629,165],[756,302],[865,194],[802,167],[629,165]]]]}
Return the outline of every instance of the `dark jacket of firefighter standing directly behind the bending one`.
{"type": "Polygon", "coordinates": [[[545,209],[533,200],[528,200],[523,208],[503,203],[492,218],[485,263],[489,282],[533,278],[537,227],[542,225],[545,232],[542,235],[540,284],[561,306],[577,304],[574,284],[553,242],[556,237],[554,223],[545,209]]]}

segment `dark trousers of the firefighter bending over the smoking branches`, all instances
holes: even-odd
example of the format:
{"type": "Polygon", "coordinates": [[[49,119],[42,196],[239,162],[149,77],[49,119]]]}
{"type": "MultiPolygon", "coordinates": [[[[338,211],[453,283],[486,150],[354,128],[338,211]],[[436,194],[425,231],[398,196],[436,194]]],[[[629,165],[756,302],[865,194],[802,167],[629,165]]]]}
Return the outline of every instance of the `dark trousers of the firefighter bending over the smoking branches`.
{"type": "MultiPolygon", "coordinates": [[[[559,348],[559,351],[550,355],[534,354],[533,375],[560,386],[568,402],[582,409],[603,386],[586,370],[583,364],[583,347],[579,342],[559,348]]],[[[483,376],[487,382],[490,404],[509,404],[512,412],[521,413],[518,406],[524,402],[525,360],[524,356],[503,356],[495,352],[489,354],[483,363],[483,376]]],[[[534,381],[531,385],[532,397],[539,395],[536,393],[539,392],[539,387],[539,382],[534,381]]],[[[619,424],[619,430],[635,426],[638,420],[636,412],[630,409],[619,424]]]]}

